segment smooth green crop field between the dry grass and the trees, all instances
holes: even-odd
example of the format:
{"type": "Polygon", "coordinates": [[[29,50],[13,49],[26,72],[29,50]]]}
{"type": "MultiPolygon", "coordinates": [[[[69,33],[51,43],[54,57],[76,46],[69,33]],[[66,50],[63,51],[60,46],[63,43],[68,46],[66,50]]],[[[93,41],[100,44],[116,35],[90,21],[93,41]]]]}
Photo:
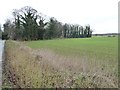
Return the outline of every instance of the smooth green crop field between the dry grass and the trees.
{"type": "Polygon", "coordinates": [[[89,57],[96,60],[118,60],[117,37],[93,37],[77,39],[56,39],[30,41],[27,45],[34,49],[50,49],[64,56],[89,57]]]}

